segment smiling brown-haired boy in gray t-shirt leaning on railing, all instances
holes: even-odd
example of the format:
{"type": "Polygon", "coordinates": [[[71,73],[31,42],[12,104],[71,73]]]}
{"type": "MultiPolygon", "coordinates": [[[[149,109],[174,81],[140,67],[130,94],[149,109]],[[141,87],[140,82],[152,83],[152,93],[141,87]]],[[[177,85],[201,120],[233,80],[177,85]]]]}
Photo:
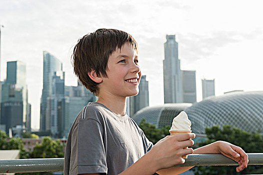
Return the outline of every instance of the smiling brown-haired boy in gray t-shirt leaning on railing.
{"type": "Polygon", "coordinates": [[[192,150],[194,133],[166,136],[154,146],[126,114],[126,97],[138,93],[141,77],[138,46],[128,33],[97,29],[78,40],[72,54],[74,73],[98,96],[77,115],[68,134],[64,174],[177,174],[191,167],[184,163],[190,153],[222,153],[247,166],[239,147],[217,141],[192,150]],[[166,169],[163,169],[166,168],[166,169]]]}

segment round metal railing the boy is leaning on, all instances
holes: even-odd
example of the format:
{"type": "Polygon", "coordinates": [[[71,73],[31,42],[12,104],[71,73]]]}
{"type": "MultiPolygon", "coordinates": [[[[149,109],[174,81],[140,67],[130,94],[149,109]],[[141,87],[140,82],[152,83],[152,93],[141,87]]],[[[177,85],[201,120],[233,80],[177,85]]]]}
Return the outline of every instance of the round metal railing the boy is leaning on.
{"type": "MultiPolygon", "coordinates": [[[[263,165],[263,153],[247,153],[248,165],[263,165]]],[[[64,158],[32,158],[0,160],[0,173],[62,171],[64,158]]],[[[185,163],[176,166],[237,165],[222,154],[189,154],[185,163]]]]}

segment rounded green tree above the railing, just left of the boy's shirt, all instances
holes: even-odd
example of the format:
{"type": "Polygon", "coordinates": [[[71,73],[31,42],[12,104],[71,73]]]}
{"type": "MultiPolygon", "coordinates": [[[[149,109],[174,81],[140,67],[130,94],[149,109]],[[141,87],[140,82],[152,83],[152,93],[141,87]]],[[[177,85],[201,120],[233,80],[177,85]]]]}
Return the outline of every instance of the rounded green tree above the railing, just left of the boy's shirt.
{"type": "Polygon", "coordinates": [[[59,140],[52,140],[49,136],[43,137],[41,144],[36,144],[31,152],[32,158],[64,157],[63,145],[59,140]]]}

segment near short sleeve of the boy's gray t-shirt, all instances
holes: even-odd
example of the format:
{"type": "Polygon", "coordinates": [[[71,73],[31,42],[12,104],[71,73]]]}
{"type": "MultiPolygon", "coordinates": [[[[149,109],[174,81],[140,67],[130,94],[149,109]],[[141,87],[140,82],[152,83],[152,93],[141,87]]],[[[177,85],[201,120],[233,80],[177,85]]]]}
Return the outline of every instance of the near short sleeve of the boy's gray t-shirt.
{"type": "Polygon", "coordinates": [[[79,118],[76,131],[77,163],[70,174],[106,173],[106,151],[100,122],[92,118],[79,118]]]}

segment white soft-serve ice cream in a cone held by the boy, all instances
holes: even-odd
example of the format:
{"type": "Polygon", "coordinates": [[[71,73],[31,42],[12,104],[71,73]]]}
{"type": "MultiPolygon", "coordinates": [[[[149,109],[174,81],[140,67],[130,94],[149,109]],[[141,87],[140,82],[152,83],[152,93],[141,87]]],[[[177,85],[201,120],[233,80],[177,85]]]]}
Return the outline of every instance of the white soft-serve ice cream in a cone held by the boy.
{"type": "MultiPolygon", "coordinates": [[[[169,132],[170,135],[191,132],[191,121],[188,119],[185,111],[181,111],[177,116],[173,118],[169,132]]],[[[182,158],[187,158],[187,155],[183,155],[182,158]]]]}

